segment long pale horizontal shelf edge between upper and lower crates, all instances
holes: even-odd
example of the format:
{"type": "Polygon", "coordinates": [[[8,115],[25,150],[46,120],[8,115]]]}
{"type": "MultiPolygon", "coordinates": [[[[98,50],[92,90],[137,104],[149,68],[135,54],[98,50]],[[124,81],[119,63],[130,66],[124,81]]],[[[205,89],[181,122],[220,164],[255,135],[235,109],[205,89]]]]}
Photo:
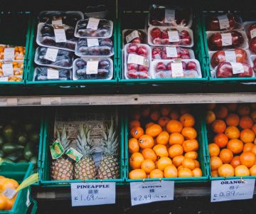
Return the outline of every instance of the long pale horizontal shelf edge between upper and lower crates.
{"type": "Polygon", "coordinates": [[[1,107],[60,105],[146,105],[256,102],[256,93],[73,95],[0,97],[1,107]]]}

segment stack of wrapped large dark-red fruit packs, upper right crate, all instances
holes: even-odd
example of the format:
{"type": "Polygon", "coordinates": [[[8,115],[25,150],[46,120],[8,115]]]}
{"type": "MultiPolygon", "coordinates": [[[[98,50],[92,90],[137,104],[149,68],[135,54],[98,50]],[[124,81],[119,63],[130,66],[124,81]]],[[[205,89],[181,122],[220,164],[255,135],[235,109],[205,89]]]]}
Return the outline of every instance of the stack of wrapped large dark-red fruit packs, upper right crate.
{"type": "Polygon", "coordinates": [[[212,78],[253,77],[246,33],[238,14],[205,15],[212,78]]]}

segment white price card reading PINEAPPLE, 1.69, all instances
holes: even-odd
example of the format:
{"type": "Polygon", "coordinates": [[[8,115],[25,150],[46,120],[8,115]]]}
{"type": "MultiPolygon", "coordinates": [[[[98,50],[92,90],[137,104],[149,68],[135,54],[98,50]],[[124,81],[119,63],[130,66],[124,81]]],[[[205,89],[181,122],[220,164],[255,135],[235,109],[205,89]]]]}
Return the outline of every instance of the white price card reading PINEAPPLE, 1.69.
{"type": "Polygon", "coordinates": [[[72,206],[112,204],[116,201],[116,183],[71,183],[72,206]]]}

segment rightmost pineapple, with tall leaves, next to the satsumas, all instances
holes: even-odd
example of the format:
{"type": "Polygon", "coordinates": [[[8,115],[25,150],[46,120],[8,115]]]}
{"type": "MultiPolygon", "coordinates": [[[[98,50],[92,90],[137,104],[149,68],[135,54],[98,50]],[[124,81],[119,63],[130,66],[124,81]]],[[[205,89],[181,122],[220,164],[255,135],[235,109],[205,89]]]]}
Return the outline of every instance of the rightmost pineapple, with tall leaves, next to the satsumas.
{"type": "Polygon", "coordinates": [[[102,132],[102,160],[98,170],[99,179],[119,178],[119,164],[116,157],[118,138],[114,131],[114,122],[111,119],[110,127],[106,127],[106,132],[102,132]]]}

